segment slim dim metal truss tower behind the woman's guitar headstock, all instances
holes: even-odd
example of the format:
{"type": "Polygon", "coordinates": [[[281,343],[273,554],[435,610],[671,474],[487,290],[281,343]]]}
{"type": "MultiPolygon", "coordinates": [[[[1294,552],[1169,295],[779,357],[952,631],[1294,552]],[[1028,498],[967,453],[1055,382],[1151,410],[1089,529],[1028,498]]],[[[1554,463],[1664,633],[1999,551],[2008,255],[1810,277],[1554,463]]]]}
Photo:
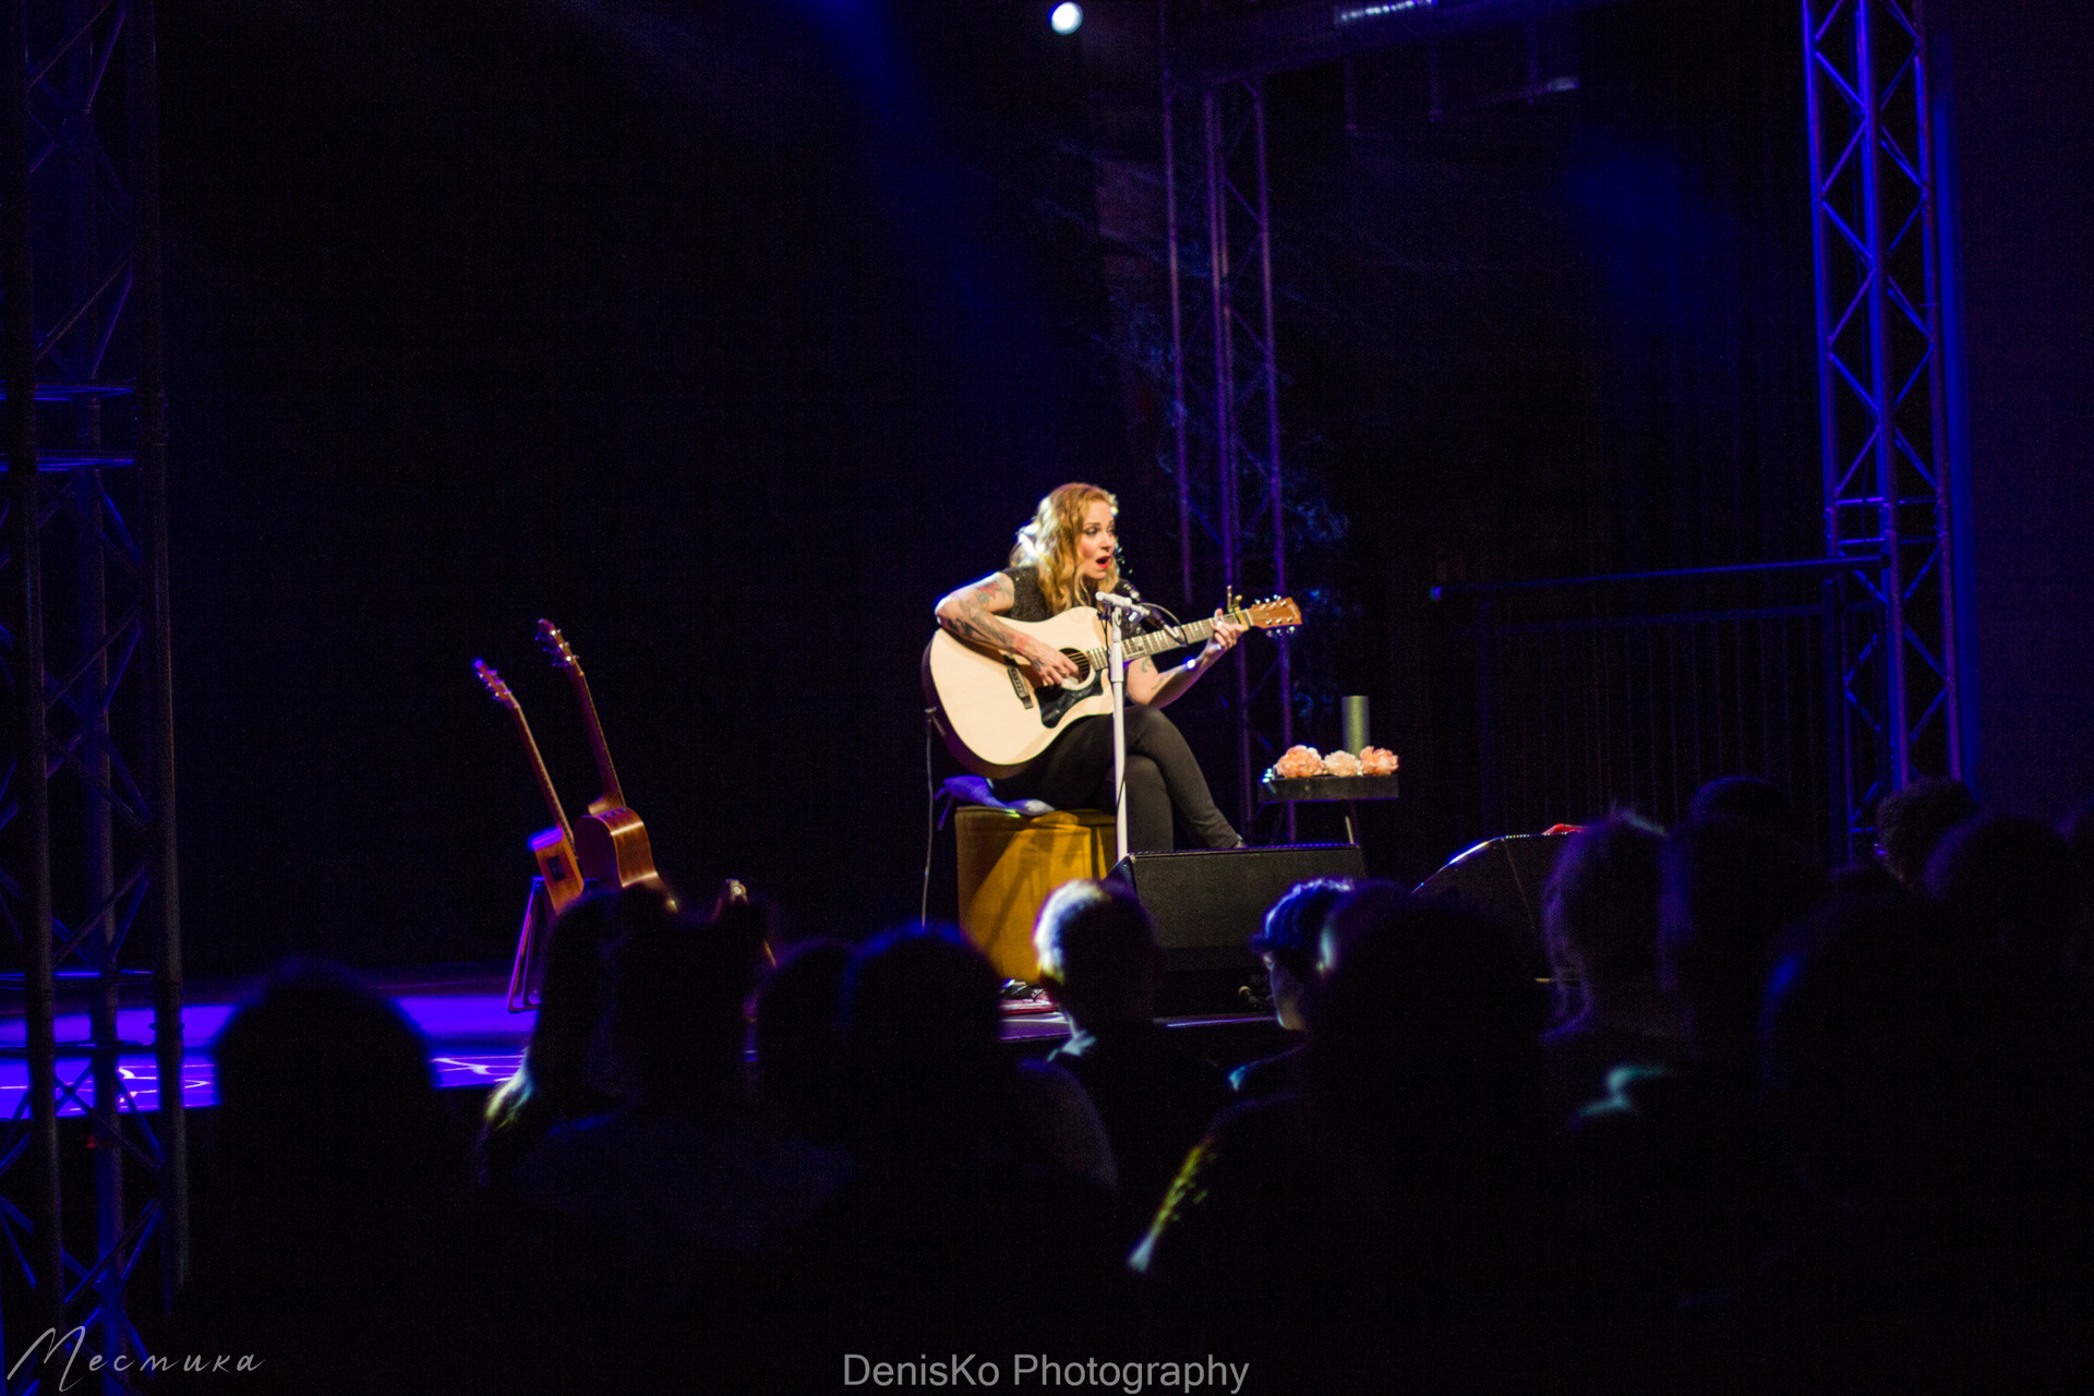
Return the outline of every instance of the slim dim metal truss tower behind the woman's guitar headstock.
{"type": "MultiPolygon", "coordinates": [[[[1273,237],[1261,77],[1183,86],[1164,73],[1171,419],[1183,599],[1288,590],[1273,350],[1273,237]],[[1219,576],[1217,576],[1219,573],[1219,576]]],[[[1231,666],[1242,829],[1265,762],[1294,741],[1294,666],[1277,636],[1256,674],[1231,666]]],[[[1288,808],[1292,837],[1294,810],[1288,808]]]]}

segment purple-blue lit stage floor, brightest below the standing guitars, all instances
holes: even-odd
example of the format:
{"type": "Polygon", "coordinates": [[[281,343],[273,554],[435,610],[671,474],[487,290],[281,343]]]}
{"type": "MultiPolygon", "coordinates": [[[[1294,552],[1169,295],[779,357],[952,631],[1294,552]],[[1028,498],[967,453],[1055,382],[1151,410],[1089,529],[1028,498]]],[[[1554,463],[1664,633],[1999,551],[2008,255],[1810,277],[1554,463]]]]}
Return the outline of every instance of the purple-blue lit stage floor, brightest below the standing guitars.
{"type": "MultiPolygon", "coordinates": [[[[429,1065],[440,1088],[488,1088],[507,1080],[524,1061],[524,1042],[530,1038],[536,1013],[511,1013],[509,967],[507,965],[431,965],[419,969],[369,971],[364,980],[392,996],[400,1009],[415,1019],[429,1040],[429,1065]]],[[[211,1074],[209,1046],[235,1005],[245,996],[247,982],[201,982],[191,986],[188,1003],[182,1007],[182,1101],[191,1109],[218,1103],[218,1084],[211,1074]]],[[[117,1063],[117,1076],[128,1093],[126,1109],[159,1107],[159,1069],[153,1057],[153,1009],[147,1003],[132,1005],[132,996],[144,990],[126,990],[117,1011],[117,1036],[126,1042],[117,1063]]],[[[59,1080],[80,1095],[92,1093],[88,1080],[88,1015],[77,1000],[61,996],[59,1003],[59,1080]]],[[[1229,1036],[1256,1036],[1269,1026],[1269,1017],[1242,1013],[1221,1013],[1204,1017],[1164,1019],[1173,1028],[1189,1032],[1225,1032],[1229,1036]]],[[[1068,1036],[1068,1019],[1060,1013],[1024,1013],[1003,1019],[1003,1040],[1026,1055],[1045,1055],[1068,1036]]],[[[17,1120],[27,1113],[29,1063],[23,1059],[27,1046],[27,1019],[23,1017],[21,994],[8,994],[0,1003],[0,1120],[17,1120]]],[[[1248,1053],[1246,1053],[1248,1055],[1248,1053]]],[[[82,1101],[67,1097],[61,1116],[84,1116],[82,1101]]]]}

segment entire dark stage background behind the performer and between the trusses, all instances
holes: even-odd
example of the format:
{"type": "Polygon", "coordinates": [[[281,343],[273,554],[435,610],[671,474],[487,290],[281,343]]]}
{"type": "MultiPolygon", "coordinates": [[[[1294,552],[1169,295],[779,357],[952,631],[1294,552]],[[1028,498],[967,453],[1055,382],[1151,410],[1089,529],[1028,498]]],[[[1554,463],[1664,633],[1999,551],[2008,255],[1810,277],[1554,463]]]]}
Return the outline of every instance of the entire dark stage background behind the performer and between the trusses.
{"type": "MultiPolygon", "coordinates": [[[[570,808],[595,793],[538,615],[674,881],[743,877],[798,933],[915,915],[936,596],[1070,477],[1122,492],[1133,576],[1173,590],[1154,320],[1097,232],[1112,27],[959,0],[343,8],[199,0],[161,31],[191,971],[507,954],[544,818],[475,655],[570,808]]],[[[1979,38],[1956,73],[1983,105],[2019,50],[1979,38]]],[[[1478,88],[1497,61],[1457,59],[1478,88]]],[[[1493,833],[1455,814],[1472,733],[1432,582],[1818,550],[1799,65],[1792,4],[1638,0],[1579,19],[1568,98],[1432,123],[1416,52],[1361,61],[1351,111],[1336,67],[1273,82],[1300,722],[1334,745],[1334,699],[1374,697],[1407,776],[1367,827],[1378,871],[1493,833]]],[[[2084,190],[2060,211],[2000,172],[2073,113],[2084,157],[2086,96],[2056,100],[1958,153],[1991,268],[1973,471],[2017,463],[1977,519],[1981,770],[2012,804],[2042,764],[2046,814],[2094,785],[2088,647],[2050,638],[2086,634],[2084,475],[2042,523],[2000,519],[2084,469],[2088,220],[2084,190]],[[2031,224],[2033,272],[1987,241],[2031,224]],[[1985,435],[2027,383],[2000,356],[2031,278],[2056,295],[2029,373],[2069,410],[1985,435]],[[2060,569],[2037,638],[1996,615],[2012,582],[1985,590],[2008,550],[2060,569]],[[2035,762],[2014,714],[2046,663],[2079,670],[2044,689],[2035,762]]],[[[1229,785],[1212,701],[1183,716],[1229,785]]]]}

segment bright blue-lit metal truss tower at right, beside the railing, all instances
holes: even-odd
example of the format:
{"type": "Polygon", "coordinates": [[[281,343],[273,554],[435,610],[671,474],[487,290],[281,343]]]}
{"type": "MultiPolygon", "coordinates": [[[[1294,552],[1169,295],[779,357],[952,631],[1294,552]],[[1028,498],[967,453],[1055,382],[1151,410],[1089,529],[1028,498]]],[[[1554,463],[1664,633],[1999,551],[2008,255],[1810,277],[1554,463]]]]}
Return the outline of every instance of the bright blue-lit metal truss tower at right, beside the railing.
{"type": "Polygon", "coordinates": [[[1849,841],[1876,797],[1962,774],[1941,268],[1922,0],[1803,0],[1826,555],[1883,617],[1841,655],[1849,841]]]}

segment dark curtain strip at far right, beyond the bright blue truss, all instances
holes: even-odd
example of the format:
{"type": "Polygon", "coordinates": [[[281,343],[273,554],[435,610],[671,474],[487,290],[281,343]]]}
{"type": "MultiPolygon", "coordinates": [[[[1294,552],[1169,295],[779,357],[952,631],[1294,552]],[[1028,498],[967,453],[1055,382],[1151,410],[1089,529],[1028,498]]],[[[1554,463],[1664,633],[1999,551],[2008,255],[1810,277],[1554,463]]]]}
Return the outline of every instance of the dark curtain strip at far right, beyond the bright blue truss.
{"type": "Polygon", "coordinates": [[[2094,795],[2094,15],[1939,6],[1968,419],[1960,532],[1973,783],[2042,818],[2094,795]]]}

